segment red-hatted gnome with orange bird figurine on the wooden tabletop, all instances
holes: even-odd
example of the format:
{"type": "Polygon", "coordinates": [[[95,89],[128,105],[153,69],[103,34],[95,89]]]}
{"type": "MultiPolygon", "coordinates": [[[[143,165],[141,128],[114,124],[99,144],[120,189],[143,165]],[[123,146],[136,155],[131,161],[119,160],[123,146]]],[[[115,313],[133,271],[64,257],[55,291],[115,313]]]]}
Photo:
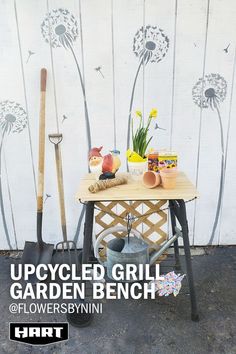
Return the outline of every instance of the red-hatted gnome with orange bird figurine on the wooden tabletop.
{"type": "Polygon", "coordinates": [[[95,173],[97,179],[111,179],[115,177],[120,167],[120,152],[112,150],[110,154],[101,155],[102,146],[92,148],[89,152],[89,167],[92,173],[95,173]]]}

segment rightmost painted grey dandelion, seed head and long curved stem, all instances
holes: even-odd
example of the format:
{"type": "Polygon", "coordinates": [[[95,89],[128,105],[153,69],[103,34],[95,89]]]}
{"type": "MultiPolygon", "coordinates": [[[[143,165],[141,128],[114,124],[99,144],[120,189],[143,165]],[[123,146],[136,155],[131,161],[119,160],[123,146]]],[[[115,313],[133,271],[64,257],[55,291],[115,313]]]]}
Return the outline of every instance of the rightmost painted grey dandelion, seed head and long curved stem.
{"type": "Polygon", "coordinates": [[[218,201],[216,207],[216,214],[211,232],[209,244],[212,243],[214,234],[218,225],[219,215],[222,203],[222,193],[224,185],[224,131],[222,125],[222,118],[220,113],[220,104],[224,101],[227,94],[227,82],[219,74],[208,74],[204,78],[200,78],[192,90],[193,101],[201,109],[211,108],[217,114],[218,124],[220,128],[220,143],[221,143],[221,172],[220,172],[220,188],[218,194],[218,201]]]}

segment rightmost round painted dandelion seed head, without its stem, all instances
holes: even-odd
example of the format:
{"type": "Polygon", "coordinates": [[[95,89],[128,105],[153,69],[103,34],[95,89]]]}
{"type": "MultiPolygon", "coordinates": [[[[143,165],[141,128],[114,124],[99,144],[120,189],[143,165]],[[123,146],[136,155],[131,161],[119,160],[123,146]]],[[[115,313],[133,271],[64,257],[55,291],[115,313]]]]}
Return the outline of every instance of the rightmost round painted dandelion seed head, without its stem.
{"type": "Polygon", "coordinates": [[[208,74],[200,78],[192,90],[193,101],[200,108],[214,109],[223,102],[227,94],[227,82],[219,74],[208,74]]]}

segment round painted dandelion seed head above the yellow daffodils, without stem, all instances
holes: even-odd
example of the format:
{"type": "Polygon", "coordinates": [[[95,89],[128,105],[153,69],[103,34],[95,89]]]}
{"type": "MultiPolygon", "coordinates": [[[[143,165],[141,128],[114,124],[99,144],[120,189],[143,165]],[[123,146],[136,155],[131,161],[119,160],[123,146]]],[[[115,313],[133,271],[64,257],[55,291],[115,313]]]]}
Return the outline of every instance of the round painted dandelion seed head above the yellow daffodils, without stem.
{"type": "Polygon", "coordinates": [[[157,26],[141,27],[134,36],[134,54],[145,64],[158,63],[169,49],[169,38],[157,26]]]}

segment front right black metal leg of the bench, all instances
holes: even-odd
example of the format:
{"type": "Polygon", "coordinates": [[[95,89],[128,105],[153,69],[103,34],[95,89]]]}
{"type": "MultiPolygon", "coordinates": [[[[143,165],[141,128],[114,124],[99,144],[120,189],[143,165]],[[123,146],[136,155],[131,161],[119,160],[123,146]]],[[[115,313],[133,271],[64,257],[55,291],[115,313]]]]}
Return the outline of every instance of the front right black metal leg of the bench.
{"type": "Polygon", "coordinates": [[[185,261],[186,261],[186,272],[189,284],[190,291],[190,299],[191,299],[191,318],[193,321],[198,321],[198,310],[197,310],[197,301],[196,294],[194,288],[193,281],[193,271],[192,271],[192,261],[191,261],[191,253],[190,253],[190,245],[189,245],[189,237],[188,237],[188,221],[186,215],[186,207],[184,200],[178,200],[179,204],[179,222],[182,228],[183,233],[183,242],[184,242],[184,253],[185,253],[185,261]]]}

